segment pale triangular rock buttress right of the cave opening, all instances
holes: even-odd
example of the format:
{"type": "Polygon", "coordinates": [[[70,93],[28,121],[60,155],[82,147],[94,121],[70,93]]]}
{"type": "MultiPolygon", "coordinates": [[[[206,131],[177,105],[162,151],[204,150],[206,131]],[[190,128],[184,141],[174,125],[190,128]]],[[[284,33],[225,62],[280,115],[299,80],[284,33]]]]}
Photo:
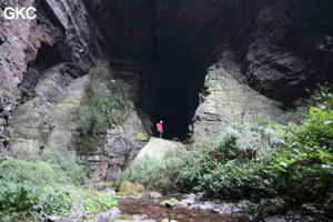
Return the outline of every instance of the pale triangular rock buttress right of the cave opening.
{"type": "Polygon", "coordinates": [[[279,121],[281,104],[244,84],[240,77],[240,65],[228,58],[208,69],[205,90],[193,117],[194,142],[226,125],[279,121]]]}

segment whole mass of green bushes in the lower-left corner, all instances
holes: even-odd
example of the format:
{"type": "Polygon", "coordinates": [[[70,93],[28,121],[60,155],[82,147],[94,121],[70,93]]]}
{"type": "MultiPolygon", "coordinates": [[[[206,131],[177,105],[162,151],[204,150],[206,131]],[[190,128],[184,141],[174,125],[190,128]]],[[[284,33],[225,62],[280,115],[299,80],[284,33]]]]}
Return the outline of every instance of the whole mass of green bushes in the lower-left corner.
{"type": "Polygon", "coordinates": [[[83,191],[74,185],[88,182],[83,167],[48,149],[33,160],[0,158],[0,221],[29,221],[42,215],[67,215],[73,201],[84,200],[84,211],[97,213],[117,205],[114,196],[83,191]],[[67,184],[69,193],[59,191],[67,184]],[[80,195],[78,195],[80,193],[80,195]]]}

